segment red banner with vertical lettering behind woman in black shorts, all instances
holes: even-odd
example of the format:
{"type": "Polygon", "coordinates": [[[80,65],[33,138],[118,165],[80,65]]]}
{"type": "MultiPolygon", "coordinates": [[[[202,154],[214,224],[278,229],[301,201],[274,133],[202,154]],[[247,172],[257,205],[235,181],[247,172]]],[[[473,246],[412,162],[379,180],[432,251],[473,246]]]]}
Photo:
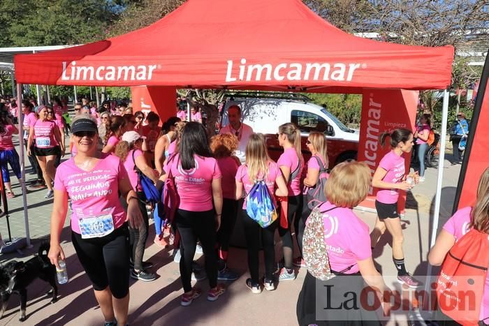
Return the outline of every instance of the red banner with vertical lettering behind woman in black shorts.
{"type": "MultiPolygon", "coordinates": [[[[382,147],[379,135],[384,131],[397,128],[414,130],[416,123],[416,108],[418,91],[400,89],[370,89],[363,91],[362,119],[360,124],[360,145],[358,161],[364,161],[370,167],[372,176],[379,166],[380,160],[391,147],[382,147]]],[[[406,171],[409,171],[411,156],[406,154],[406,171]]],[[[368,210],[375,209],[376,188],[370,188],[369,195],[360,207],[368,210]]],[[[402,192],[398,202],[398,212],[404,212],[406,193],[402,192]]]]}

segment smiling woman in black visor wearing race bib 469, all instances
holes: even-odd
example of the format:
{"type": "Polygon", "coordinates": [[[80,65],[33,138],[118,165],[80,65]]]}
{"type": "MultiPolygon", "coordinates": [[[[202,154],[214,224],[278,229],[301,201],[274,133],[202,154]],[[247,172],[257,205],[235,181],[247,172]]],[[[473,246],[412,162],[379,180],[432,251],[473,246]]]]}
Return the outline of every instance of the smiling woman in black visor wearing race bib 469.
{"type": "Polygon", "coordinates": [[[48,257],[57,269],[59,260],[66,259],[60,242],[70,198],[71,241],[92,282],[105,325],[126,325],[129,310],[127,222],[131,228],[143,223],[139,200],[120,159],[98,151],[95,120],[78,119],[73,122],[71,131],[78,154],[59,165],[54,180],[48,257]],[[119,197],[127,203],[127,214],[119,197]]]}

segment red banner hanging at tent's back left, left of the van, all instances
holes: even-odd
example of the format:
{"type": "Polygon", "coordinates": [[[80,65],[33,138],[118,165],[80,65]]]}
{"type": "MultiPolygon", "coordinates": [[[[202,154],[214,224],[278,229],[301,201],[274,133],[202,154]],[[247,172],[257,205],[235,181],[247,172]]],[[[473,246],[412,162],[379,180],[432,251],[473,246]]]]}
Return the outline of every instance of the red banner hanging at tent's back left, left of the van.
{"type": "Polygon", "coordinates": [[[162,86],[131,87],[133,112],[143,111],[145,115],[156,112],[161,123],[175,116],[177,109],[177,89],[162,86]]]}

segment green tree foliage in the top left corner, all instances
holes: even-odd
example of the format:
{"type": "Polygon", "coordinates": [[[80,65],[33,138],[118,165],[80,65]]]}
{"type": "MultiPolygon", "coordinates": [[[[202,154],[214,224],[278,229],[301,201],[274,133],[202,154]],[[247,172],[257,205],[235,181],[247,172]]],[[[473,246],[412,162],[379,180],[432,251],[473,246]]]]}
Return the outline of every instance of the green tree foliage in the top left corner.
{"type": "Polygon", "coordinates": [[[82,44],[108,36],[120,7],[110,0],[2,0],[0,46],[82,44]]]}

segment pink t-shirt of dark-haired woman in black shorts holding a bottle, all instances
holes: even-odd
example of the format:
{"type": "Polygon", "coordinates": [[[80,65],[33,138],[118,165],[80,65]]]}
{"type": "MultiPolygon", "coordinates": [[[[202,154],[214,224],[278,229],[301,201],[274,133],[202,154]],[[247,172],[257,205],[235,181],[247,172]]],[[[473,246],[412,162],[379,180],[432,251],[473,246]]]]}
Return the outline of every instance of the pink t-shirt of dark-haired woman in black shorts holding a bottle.
{"type": "MultiPolygon", "coordinates": [[[[386,176],[382,179],[385,182],[396,184],[402,181],[406,173],[404,166],[404,155],[398,156],[394,151],[389,151],[380,161],[379,167],[387,171],[386,176]]],[[[380,189],[377,192],[377,200],[384,204],[394,204],[399,198],[397,189],[380,189]]]]}

